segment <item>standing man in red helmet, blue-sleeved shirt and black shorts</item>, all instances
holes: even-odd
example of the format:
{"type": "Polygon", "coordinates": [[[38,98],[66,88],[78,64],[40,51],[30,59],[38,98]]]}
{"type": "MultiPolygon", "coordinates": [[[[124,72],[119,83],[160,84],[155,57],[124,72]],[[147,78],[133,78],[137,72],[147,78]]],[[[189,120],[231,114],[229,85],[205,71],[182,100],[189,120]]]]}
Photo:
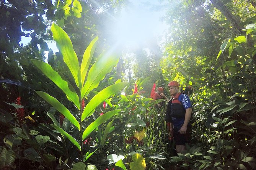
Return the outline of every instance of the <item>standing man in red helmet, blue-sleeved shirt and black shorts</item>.
{"type": "Polygon", "coordinates": [[[173,134],[176,152],[181,153],[185,150],[191,133],[191,102],[187,95],[179,93],[178,82],[171,81],[168,88],[173,98],[167,104],[165,120],[170,122],[170,134],[173,134]]]}

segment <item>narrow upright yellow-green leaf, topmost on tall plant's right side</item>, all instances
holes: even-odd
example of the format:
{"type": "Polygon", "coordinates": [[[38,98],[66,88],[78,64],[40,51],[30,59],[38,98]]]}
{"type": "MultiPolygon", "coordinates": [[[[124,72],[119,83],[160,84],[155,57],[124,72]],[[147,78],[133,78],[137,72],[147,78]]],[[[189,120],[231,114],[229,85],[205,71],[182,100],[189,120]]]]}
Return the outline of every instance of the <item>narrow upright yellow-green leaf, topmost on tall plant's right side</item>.
{"type": "Polygon", "coordinates": [[[95,51],[95,47],[96,47],[96,42],[99,39],[99,37],[95,37],[90,45],[86,48],[85,53],[83,54],[83,60],[82,60],[82,64],[81,64],[81,75],[82,75],[82,85],[85,82],[85,77],[88,71],[88,68],[90,66],[91,63],[91,59],[93,58],[93,53],[95,51]]]}

